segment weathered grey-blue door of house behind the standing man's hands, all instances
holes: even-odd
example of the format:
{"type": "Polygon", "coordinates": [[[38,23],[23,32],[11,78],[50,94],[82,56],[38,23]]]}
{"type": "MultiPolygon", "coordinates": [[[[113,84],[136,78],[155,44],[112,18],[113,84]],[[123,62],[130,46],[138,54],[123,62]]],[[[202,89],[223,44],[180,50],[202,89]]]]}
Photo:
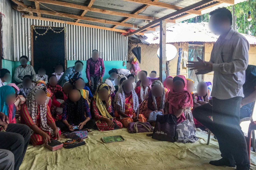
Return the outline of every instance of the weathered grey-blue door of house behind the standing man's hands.
{"type": "MultiPolygon", "coordinates": [[[[189,44],[188,46],[188,61],[198,61],[197,57],[204,60],[204,45],[189,44]]],[[[195,70],[188,69],[188,78],[194,80],[194,90],[196,91],[197,84],[203,81],[203,75],[196,74],[195,70]]]]}

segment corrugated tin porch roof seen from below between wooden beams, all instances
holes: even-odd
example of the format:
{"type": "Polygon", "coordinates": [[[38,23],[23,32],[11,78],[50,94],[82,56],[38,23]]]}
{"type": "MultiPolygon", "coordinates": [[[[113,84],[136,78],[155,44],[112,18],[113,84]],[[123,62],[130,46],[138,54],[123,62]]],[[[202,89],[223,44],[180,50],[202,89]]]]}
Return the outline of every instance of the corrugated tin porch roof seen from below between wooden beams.
{"type": "MultiPolygon", "coordinates": [[[[78,4],[78,5],[84,5],[84,6],[88,6],[88,4],[90,2],[90,0],[58,0],[58,1],[68,2],[68,3],[78,4]]],[[[186,7],[186,6],[189,6],[191,4],[197,3],[199,1],[200,0],[160,0],[158,2],[167,3],[167,4],[171,4],[171,5],[176,5],[176,6],[180,6],[180,7],[186,7]]],[[[243,2],[243,1],[245,1],[245,0],[234,0],[235,4],[239,3],[239,2],[243,2]]],[[[28,6],[31,6],[32,8],[35,8],[35,3],[33,1],[23,0],[23,2],[24,2],[25,5],[28,5],[28,6]]],[[[47,10],[47,11],[54,10],[56,12],[63,12],[63,13],[79,15],[79,16],[83,12],[83,10],[70,8],[70,7],[63,7],[63,6],[59,6],[59,5],[51,5],[51,4],[45,4],[45,3],[41,3],[41,4],[39,5],[41,10],[47,10]]],[[[204,10],[201,11],[201,13],[205,14],[205,13],[208,13],[212,10],[217,9],[218,7],[223,7],[223,6],[227,7],[229,5],[230,4],[222,3],[222,4],[216,5],[214,7],[204,9],[204,10]]],[[[95,2],[92,5],[92,7],[94,7],[94,8],[124,12],[124,13],[129,13],[129,14],[132,14],[134,11],[142,8],[143,6],[145,6],[145,4],[130,2],[130,1],[126,1],[126,0],[108,0],[108,1],[106,1],[106,0],[95,0],[95,2]]],[[[167,8],[163,8],[163,7],[159,7],[159,6],[148,5],[144,11],[141,11],[139,13],[139,15],[159,17],[160,18],[160,17],[163,17],[163,16],[165,16],[167,14],[170,14],[174,11],[175,10],[172,10],[172,9],[167,9],[167,8]]],[[[34,13],[34,16],[37,16],[36,13],[34,13]]],[[[121,22],[122,20],[125,19],[125,17],[123,17],[123,16],[97,13],[97,12],[92,12],[92,11],[87,11],[85,16],[86,17],[91,17],[91,18],[97,18],[97,19],[116,21],[116,22],[121,22]]],[[[193,17],[196,17],[196,16],[197,15],[195,15],[195,14],[191,14],[191,15],[188,15],[188,16],[185,16],[185,17],[181,17],[181,18],[176,20],[176,23],[187,20],[187,19],[190,19],[190,18],[193,18],[193,17]]],[[[56,19],[57,17],[49,15],[47,18],[56,19]]],[[[70,18],[66,18],[66,19],[64,18],[64,20],[73,21],[73,22],[76,21],[76,20],[72,20],[70,18]]],[[[88,23],[93,24],[93,25],[104,25],[102,23],[91,22],[91,21],[89,21],[88,23]]],[[[136,24],[140,27],[147,24],[147,23],[144,22],[143,19],[135,19],[135,18],[131,18],[128,21],[126,21],[125,23],[136,24]]],[[[173,25],[173,23],[167,23],[167,27],[171,26],[171,25],[173,25]]],[[[112,26],[114,26],[114,25],[112,25],[112,26]]],[[[110,24],[108,24],[107,27],[110,27],[110,24]]],[[[120,27],[119,26],[117,28],[118,29],[119,28],[126,29],[127,27],[120,27]]],[[[133,29],[136,30],[137,28],[133,28],[133,29]]],[[[159,28],[156,28],[156,30],[159,30],[159,28]]],[[[153,31],[148,31],[148,33],[149,32],[153,32],[153,31]]]]}

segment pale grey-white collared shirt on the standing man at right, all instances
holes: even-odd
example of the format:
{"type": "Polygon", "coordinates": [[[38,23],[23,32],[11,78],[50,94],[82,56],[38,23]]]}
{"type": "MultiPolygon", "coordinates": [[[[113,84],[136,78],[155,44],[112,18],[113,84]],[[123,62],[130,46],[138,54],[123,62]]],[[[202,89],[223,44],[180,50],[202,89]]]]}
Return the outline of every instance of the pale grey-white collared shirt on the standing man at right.
{"type": "Polygon", "coordinates": [[[210,59],[214,71],[212,97],[222,100],[244,97],[243,84],[249,47],[246,38],[232,28],[225,39],[218,38],[214,43],[210,59]]]}

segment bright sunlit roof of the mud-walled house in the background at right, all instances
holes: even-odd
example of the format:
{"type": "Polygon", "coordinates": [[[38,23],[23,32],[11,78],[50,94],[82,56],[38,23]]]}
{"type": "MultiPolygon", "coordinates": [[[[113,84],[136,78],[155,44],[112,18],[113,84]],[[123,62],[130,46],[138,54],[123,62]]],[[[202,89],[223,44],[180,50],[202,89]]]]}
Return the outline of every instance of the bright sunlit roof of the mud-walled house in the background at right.
{"type": "MultiPolygon", "coordinates": [[[[149,44],[159,44],[159,31],[144,34],[149,44]]],[[[250,44],[256,44],[256,37],[242,34],[250,44]]],[[[216,42],[219,35],[212,33],[207,22],[177,23],[166,29],[166,43],[216,42]]]]}

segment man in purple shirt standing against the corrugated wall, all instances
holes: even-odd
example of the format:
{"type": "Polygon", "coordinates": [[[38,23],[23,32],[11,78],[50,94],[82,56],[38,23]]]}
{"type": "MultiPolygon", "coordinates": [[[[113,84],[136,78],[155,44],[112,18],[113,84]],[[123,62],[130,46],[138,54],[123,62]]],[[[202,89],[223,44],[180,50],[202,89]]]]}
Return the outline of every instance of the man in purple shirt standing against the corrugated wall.
{"type": "Polygon", "coordinates": [[[95,93],[97,85],[102,82],[104,72],[105,67],[103,59],[99,58],[99,51],[92,50],[92,57],[86,61],[86,77],[92,94],[95,93]]]}

